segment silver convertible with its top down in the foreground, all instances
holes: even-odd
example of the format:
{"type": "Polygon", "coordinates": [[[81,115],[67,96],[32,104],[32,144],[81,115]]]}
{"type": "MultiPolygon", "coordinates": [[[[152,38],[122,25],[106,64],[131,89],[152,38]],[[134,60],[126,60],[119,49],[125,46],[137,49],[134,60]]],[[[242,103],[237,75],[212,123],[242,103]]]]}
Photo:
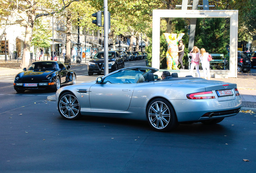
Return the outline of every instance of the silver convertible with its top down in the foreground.
{"type": "Polygon", "coordinates": [[[156,131],[179,123],[213,124],[241,108],[237,85],[178,74],[157,80],[158,69],[128,67],[58,89],[58,111],[64,119],[81,115],[148,121],[156,131]]]}

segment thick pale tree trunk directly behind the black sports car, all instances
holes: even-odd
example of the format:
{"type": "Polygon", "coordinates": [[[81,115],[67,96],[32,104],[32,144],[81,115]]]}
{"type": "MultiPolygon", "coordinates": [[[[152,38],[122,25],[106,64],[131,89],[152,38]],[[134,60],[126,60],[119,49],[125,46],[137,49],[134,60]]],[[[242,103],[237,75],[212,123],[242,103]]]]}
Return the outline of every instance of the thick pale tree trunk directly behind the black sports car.
{"type": "Polygon", "coordinates": [[[23,55],[21,60],[21,68],[28,68],[29,66],[29,59],[30,59],[30,46],[31,46],[31,39],[32,39],[32,30],[35,21],[35,11],[28,11],[28,24],[26,25],[26,34],[25,34],[25,41],[23,47],[23,55]]]}

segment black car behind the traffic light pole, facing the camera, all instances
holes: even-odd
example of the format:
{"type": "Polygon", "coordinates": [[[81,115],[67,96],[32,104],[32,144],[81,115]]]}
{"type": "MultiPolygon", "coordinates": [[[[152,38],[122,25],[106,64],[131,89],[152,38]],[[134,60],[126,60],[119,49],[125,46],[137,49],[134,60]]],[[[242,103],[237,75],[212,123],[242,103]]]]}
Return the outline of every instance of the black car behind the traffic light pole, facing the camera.
{"type": "MultiPolygon", "coordinates": [[[[92,60],[88,62],[88,74],[89,76],[93,73],[101,74],[104,73],[104,51],[97,52],[92,60]]],[[[109,72],[113,72],[120,68],[124,68],[124,58],[118,51],[108,51],[108,69],[109,72]]]]}

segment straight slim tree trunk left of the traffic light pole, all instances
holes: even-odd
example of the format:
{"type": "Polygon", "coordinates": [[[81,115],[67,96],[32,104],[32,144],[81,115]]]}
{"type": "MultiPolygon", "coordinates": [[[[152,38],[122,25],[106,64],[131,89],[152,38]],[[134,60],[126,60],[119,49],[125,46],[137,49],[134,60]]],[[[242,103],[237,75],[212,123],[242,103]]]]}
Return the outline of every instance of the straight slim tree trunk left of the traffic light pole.
{"type": "Polygon", "coordinates": [[[65,55],[65,64],[70,64],[71,59],[70,59],[70,54],[71,54],[71,12],[68,10],[68,15],[67,15],[67,32],[66,32],[66,55],[65,55]]]}

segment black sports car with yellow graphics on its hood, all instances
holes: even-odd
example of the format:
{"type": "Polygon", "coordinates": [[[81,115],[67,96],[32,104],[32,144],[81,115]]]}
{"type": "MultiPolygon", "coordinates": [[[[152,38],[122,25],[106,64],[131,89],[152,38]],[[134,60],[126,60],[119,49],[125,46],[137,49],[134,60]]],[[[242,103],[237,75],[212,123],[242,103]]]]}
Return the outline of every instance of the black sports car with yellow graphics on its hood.
{"type": "Polygon", "coordinates": [[[57,91],[60,87],[76,83],[76,74],[59,61],[37,61],[29,68],[23,68],[14,78],[14,89],[17,93],[25,90],[51,89],[57,91]]]}

